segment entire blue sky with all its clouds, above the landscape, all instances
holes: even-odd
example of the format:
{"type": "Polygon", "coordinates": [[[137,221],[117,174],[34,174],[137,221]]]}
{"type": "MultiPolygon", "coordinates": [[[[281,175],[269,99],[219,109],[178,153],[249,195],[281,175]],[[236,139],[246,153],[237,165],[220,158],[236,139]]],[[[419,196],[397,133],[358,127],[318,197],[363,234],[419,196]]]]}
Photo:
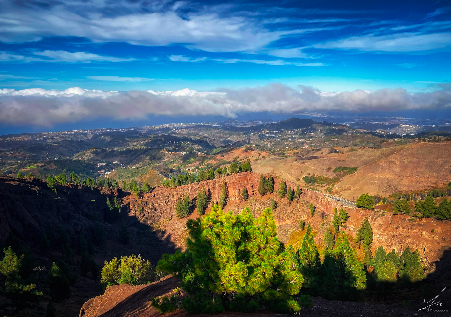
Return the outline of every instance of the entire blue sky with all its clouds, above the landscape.
{"type": "Polygon", "coordinates": [[[368,105],[449,108],[443,98],[451,81],[450,17],[449,1],[5,0],[0,3],[0,124],[35,129],[89,118],[145,122],[152,115],[202,115],[205,102],[220,108],[205,115],[226,117],[267,110],[362,111],[368,105]],[[70,87],[87,91],[63,93],[70,87]],[[309,99],[305,87],[316,93],[354,92],[354,101],[309,99]],[[184,98],[196,98],[189,101],[194,113],[177,113],[183,108],[182,101],[174,101],[180,94],[168,101],[167,94],[151,93],[140,95],[146,101],[130,115],[126,104],[112,106],[124,102],[123,94],[107,93],[184,88],[190,90],[184,98]],[[258,89],[274,95],[262,100],[258,89]],[[283,96],[277,95],[281,90],[283,96]],[[356,90],[381,92],[362,97],[356,90]],[[192,91],[225,92],[227,98],[217,101],[218,95],[192,91]],[[302,109],[290,99],[297,93],[302,109]],[[155,96],[158,107],[175,102],[168,106],[172,112],[156,111],[155,96]],[[99,106],[113,115],[92,110],[96,98],[115,98],[99,106]],[[27,119],[35,106],[41,115],[27,119]]]}

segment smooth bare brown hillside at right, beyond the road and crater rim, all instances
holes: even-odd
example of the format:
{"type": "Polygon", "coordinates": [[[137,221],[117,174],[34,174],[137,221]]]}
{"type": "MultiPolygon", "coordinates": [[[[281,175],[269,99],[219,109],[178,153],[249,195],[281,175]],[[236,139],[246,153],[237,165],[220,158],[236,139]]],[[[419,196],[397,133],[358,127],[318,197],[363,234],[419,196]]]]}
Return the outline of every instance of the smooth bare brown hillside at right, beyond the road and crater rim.
{"type": "MultiPolygon", "coordinates": [[[[420,142],[381,149],[337,148],[343,154],[327,154],[326,150],[322,154],[315,152],[315,156],[270,156],[253,161],[253,170],[303,185],[304,176],[339,177],[331,193],[347,199],[362,193],[389,196],[395,192],[424,192],[444,188],[451,179],[451,142],[420,142]],[[334,173],[340,166],[359,169],[351,175],[334,173]]],[[[323,190],[328,186],[316,185],[323,190]]]]}

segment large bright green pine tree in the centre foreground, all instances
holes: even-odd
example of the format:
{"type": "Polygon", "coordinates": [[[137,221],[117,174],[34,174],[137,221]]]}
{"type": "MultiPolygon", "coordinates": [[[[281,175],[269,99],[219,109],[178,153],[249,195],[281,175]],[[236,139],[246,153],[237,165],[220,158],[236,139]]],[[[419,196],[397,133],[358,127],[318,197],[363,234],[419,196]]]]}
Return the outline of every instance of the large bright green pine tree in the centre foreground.
{"type": "Polygon", "coordinates": [[[217,206],[187,222],[185,252],[163,255],[158,269],[181,277],[189,312],[224,309],[255,312],[259,304],[276,312],[298,312],[292,298],[304,278],[293,253],[277,239],[271,209],[254,219],[248,208],[234,216],[217,206]]]}

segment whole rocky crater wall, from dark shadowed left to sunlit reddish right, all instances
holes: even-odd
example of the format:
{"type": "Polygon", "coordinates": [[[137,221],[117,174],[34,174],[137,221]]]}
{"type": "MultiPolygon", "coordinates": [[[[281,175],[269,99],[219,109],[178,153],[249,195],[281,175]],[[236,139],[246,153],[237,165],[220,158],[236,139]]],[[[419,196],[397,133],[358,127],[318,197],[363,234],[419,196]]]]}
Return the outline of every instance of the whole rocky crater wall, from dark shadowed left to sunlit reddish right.
{"type": "MultiPolygon", "coordinates": [[[[21,239],[38,242],[41,231],[47,225],[53,228],[62,225],[72,239],[77,239],[80,233],[89,234],[92,229],[93,223],[89,219],[92,211],[98,213],[107,232],[107,239],[117,239],[115,235],[119,228],[114,228],[113,225],[102,220],[106,197],[112,198],[118,195],[120,202],[129,210],[127,219],[123,221],[129,225],[139,224],[139,222],[152,225],[158,229],[152,231],[154,235],[158,235],[152,239],[156,244],[158,241],[164,241],[158,248],[158,254],[170,252],[174,246],[184,248],[187,238],[185,228],[187,219],[179,219],[175,216],[177,199],[187,193],[194,202],[198,191],[205,187],[211,193],[211,201],[216,202],[221,195],[221,184],[225,181],[229,195],[225,211],[238,213],[245,206],[249,206],[254,216],[258,216],[262,209],[269,207],[271,200],[275,199],[278,207],[274,216],[281,241],[288,243],[292,234],[302,235],[299,232],[299,221],[302,219],[306,224],[313,226],[316,234],[315,242],[321,245],[324,231],[330,228],[333,210],[335,207],[340,209],[341,203],[305,188],[302,197],[291,203],[286,198],[279,198],[276,193],[261,197],[258,194],[259,176],[257,173],[245,172],[177,188],[159,186],[152,193],[146,193],[138,198],[133,194],[124,196],[124,193],[120,190],[118,192],[117,189],[90,188],[82,185],[59,186],[55,194],[47,188],[46,183],[40,180],[0,178],[0,241],[3,241],[12,230],[21,239]],[[249,192],[247,202],[244,202],[240,196],[244,187],[249,192]],[[317,207],[313,217],[308,211],[309,203],[317,207]],[[165,245],[170,245],[170,250],[165,250],[165,245]]],[[[279,188],[280,182],[281,179],[275,179],[276,189],[279,188]]],[[[292,188],[296,186],[291,182],[286,183],[292,188]]],[[[410,221],[409,216],[393,216],[389,212],[350,207],[345,209],[350,215],[345,231],[351,236],[355,237],[361,221],[365,216],[368,217],[373,227],[373,254],[374,249],[380,245],[386,250],[395,248],[398,252],[409,246],[412,249],[418,248],[423,262],[428,265],[437,261],[442,256],[443,250],[451,246],[450,221],[437,221],[430,218],[410,221]]],[[[188,219],[197,216],[197,211],[194,210],[188,219]]],[[[138,249],[138,253],[141,249],[138,249]]],[[[157,260],[155,257],[152,262],[157,260]]]]}

